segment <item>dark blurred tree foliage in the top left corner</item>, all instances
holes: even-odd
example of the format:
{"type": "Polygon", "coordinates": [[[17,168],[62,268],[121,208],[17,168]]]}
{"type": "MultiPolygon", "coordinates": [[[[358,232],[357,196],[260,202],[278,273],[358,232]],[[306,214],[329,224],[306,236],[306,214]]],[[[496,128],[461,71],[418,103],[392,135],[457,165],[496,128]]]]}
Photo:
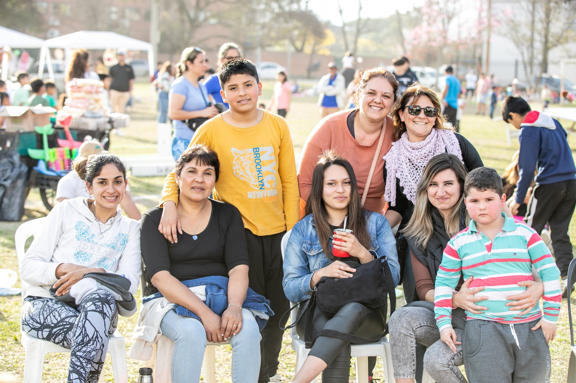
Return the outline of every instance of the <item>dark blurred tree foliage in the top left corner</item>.
{"type": "Polygon", "coordinates": [[[46,20],[33,0],[0,0],[0,25],[22,33],[46,30],[46,20]]]}

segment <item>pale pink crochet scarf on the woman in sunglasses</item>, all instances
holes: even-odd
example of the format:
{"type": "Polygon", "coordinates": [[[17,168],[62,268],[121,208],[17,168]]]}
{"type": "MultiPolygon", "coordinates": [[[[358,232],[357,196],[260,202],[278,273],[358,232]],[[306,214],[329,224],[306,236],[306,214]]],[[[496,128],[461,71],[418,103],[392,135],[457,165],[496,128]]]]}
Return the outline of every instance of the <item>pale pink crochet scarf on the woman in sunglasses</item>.
{"type": "Polygon", "coordinates": [[[448,129],[432,129],[424,141],[410,142],[406,132],[400,140],[392,143],[392,148],[384,156],[386,161],[386,187],[384,199],[396,206],[396,178],[404,187],[404,195],[412,204],[416,201],[416,187],[424,167],[435,155],[441,153],[456,155],[462,160],[462,151],[456,135],[448,129]]]}

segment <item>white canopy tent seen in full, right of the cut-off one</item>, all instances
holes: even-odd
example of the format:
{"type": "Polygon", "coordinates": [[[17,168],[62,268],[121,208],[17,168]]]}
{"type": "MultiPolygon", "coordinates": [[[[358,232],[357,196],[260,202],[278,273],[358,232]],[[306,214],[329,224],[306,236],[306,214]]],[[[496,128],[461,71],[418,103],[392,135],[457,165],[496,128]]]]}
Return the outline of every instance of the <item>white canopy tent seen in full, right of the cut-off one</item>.
{"type": "MultiPolygon", "coordinates": [[[[128,51],[147,51],[148,68],[150,73],[154,73],[154,51],[152,44],[146,43],[146,41],[133,39],[132,37],[120,35],[120,33],[116,32],[108,32],[106,30],[80,30],[78,32],[69,33],[68,35],[44,41],[44,54],[40,55],[40,71],[44,70],[44,60],[50,59],[49,48],[64,49],[66,66],[71,60],[71,49],[123,48],[128,51]]],[[[48,66],[48,70],[50,70],[50,68],[51,66],[48,66]]]]}

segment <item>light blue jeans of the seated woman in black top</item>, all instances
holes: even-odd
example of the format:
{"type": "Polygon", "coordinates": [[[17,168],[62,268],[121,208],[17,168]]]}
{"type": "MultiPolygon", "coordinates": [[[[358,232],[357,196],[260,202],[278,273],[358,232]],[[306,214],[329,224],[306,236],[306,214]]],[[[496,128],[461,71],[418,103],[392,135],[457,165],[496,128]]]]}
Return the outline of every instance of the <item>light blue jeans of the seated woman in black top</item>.
{"type": "MultiPolygon", "coordinates": [[[[162,334],[174,342],[172,383],[200,381],[206,349],[206,331],[199,320],[170,310],[160,324],[162,334]]],[[[256,383],[260,373],[260,331],[248,309],[242,309],[242,329],[230,337],[232,382],[256,383]]]]}

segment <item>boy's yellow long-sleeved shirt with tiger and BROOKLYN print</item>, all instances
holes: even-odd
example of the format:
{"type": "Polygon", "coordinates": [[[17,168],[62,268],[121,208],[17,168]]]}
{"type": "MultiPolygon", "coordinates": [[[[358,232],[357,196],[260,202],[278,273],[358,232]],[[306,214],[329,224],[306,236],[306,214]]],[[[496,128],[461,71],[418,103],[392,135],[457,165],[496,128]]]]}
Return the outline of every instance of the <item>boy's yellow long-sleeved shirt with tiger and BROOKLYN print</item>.
{"type": "MultiPolygon", "coordinates": [[[[221,116],[206,121],[190,145],[213,148],[220,159],[214,199],[240,210],[255,235],[290,230],[300,217],[294,146],[286,121],[264,111],[253,127],[237,128],[221,116]]],[[[160,203],[178,201],[174,173],[166,177],[160,203]]]]}

